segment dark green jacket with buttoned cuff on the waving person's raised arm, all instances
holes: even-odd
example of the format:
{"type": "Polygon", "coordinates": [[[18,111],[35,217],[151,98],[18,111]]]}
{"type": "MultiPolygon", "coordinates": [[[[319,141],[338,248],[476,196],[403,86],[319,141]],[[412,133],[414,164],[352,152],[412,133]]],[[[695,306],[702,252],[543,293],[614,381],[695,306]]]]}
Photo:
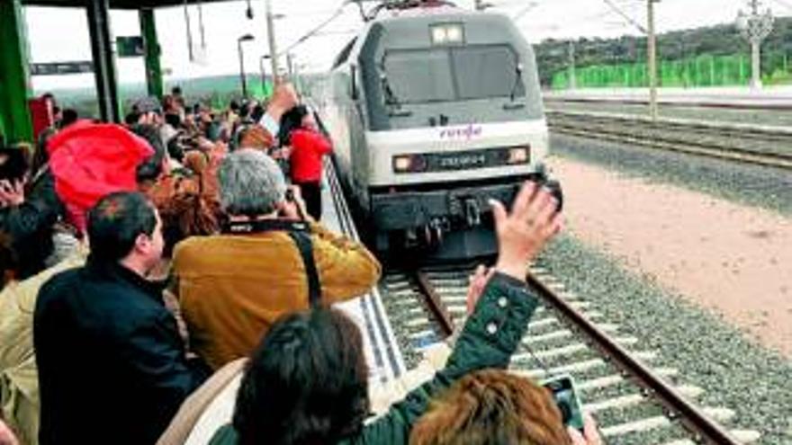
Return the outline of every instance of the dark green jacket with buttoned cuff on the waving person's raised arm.
{"type": "MultiPolygon", "coordinates": [[[[339,445],[407,444],[412,425],[427,411],[429,401],[456,379],[474,370],[505,369],[509,365],[536,304],[536,297],[527,293],[524,283],[496,273],[465,323],[446,368],[392,405],[387,414],[365,425],[358,435],[340,441],[339,445]]],[[[237,434],[227,424],[215,433],[210,445],[236,443],[237,434]]]]}

